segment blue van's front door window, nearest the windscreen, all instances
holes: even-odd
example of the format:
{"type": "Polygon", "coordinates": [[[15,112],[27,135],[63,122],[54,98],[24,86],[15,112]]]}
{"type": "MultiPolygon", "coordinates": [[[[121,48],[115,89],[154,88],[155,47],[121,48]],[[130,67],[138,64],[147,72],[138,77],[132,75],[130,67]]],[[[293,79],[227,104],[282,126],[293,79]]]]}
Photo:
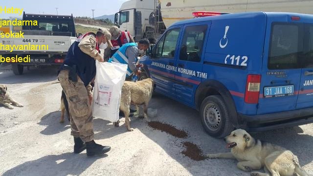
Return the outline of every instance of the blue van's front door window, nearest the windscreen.
{"type": "Polygon", "coordinates": [[[179,36],[179,30],[180,30],[179,28],[173,29],[166,33],[164,45],[163,45],[162,57],[174,58],[176,44],[177,44],[177,40],[179,36]]]}

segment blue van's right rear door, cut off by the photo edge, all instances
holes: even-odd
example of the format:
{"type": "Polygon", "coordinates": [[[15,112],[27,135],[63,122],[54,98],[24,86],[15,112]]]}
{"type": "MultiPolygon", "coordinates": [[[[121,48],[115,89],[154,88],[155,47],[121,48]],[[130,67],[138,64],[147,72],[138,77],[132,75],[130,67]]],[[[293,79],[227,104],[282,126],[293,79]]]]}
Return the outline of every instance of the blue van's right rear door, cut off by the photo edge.
{"type": "Polygon", "coordinates": [[[304,24],[302,72],[296,109],[313,107],[313,24],[304,24]]]}

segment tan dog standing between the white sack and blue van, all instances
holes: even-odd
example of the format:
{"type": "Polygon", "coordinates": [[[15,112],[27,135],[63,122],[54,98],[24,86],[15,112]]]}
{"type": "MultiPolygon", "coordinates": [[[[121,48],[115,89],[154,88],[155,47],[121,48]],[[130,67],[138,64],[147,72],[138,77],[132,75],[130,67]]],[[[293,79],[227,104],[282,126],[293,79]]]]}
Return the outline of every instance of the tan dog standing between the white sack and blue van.
{"type": "MultiPolygon", "coordinates": [[[[134,131],[129,121],[131,104],[136,105],[137,112],[139,112],[138,106],[143,105],[145,119],[147,122],[150,122],[148,119],[148,104],[152,96],[153,88],[154,81],[150,78],[137,82],[124,82],[119,110],[125,115],[125,125],[129,132],[134,131]]],[[[119,120],[115,122],[115,126],[118,126],[118,124],[119,120]]]]}

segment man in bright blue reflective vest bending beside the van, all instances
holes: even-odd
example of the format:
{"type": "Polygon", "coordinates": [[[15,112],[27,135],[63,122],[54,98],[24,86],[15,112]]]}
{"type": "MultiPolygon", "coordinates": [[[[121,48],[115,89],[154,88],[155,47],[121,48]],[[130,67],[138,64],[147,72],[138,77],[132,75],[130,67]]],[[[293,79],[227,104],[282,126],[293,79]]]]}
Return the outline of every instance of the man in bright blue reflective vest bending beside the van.
{"type": "Polygon", "coordinates": [[[131,80],[131,75],[134,73],[139,76],[140,70],[138,70],[136,66],[138,52],[146,51],[149,48],[149,40],[148,39],[141,39],[138,43],[127,43],[123,44],[113,56],[109,59],[108,62],[115,62],[120,64],[127,64],[127,73],[126,73],[126,80],[131,80]]]}

